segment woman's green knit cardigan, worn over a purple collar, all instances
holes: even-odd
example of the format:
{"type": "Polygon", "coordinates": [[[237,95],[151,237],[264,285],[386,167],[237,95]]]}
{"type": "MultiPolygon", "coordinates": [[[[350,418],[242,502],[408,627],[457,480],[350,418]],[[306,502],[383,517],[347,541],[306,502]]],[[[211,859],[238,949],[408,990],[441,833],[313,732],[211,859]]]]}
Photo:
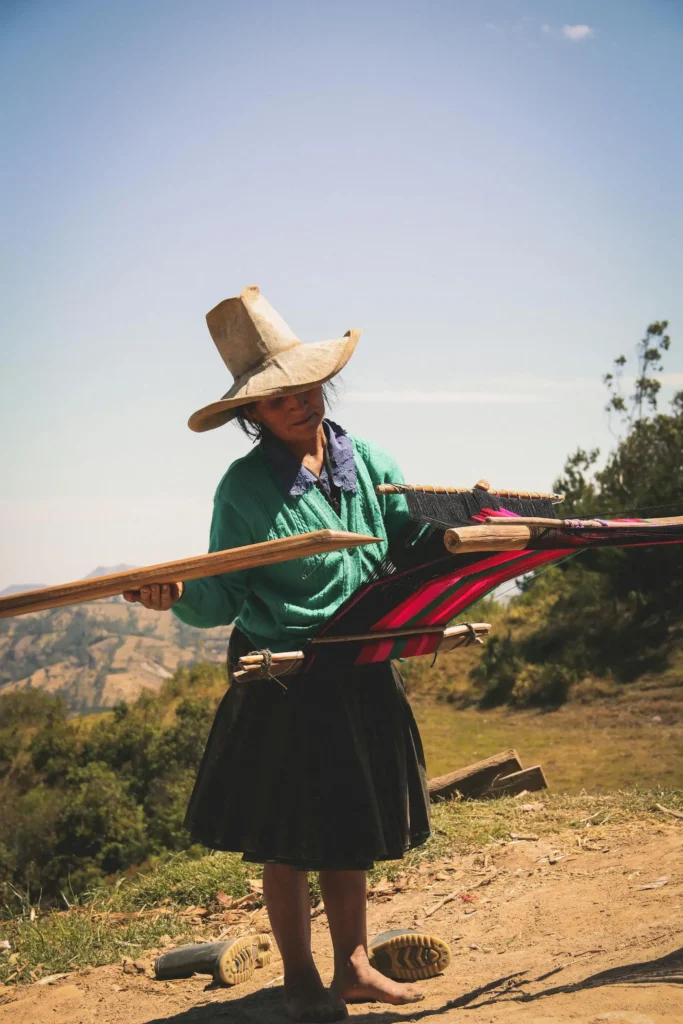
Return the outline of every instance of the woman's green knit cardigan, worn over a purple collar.
{"type": "MultiPolygon", "coordinates": [[[[350,436],[350,435],[349,435],[350,436]]],[[[299,649],[334,615],[387,552],[388,539],[409,521],[402,495],[378,495],[378,483],[402,482],[381,449],[351,437],[357,494],[341,493],[341,514],[317,487],[285,497],[260,444],[238,459],[218,484],[209,551],[256,544],[315,529],[345,529],[382,543],[298,558],[279,565],[188,580],[173,612],[188,626],[234,622],[254,649],[299,649]]]]}

